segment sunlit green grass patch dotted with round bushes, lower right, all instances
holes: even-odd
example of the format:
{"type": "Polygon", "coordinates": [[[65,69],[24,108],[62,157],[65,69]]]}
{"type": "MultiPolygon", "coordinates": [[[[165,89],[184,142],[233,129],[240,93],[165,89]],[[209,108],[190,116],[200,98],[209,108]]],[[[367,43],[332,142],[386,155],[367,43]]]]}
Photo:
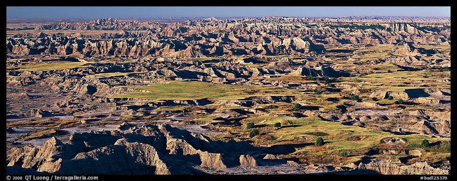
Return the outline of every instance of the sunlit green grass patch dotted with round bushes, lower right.
{"type": "MultiPolygon", "coordinates": [[[[273,144],[282,143],[314,143],[317,136],[315,133],[325,133],[321,136],[325,144],[316,151],[314,145],[308,145],[301,148],[296,148],[295,153],[305,152],[306,154],[338,154],[341,150],[348,150],[353,155],[362,155],[364,151],[378,144],[382,138],[394,136],[405,138],[409,144],[420,144],[423,139],[432,142],[449,141],[450,138],[432,138],[429,136],[413,135],[394,135],[380,130],[364,128],[358,126],[346,126],[340,122],[321,121],[317,117],[293,118],[293,117],[272,117],[259,116],[243,120],[244,122],[254,122],[256,125],[267,124],[271,127],[275,122],[281,122],[283,125],[280,129],[275,129],[273,132],[268,132],[267,135],[275,137],[273,144]],[[286,125],[286,126],[284,126],[286,125]],[[293,126],[290,126],[293,125],[293,126]],[[299,137],[306,136],[312,139],[304,141],[299,140],[299,137]],[[358,141],[350,138],[359,137],[358,141]]],[[[262,128],[261,132],[262,132],[262,128]]],[[[430,155],[432,156],[432,155],[430,155]]],[[[446,156],[446,154],[444,155],[446,156]]]]}

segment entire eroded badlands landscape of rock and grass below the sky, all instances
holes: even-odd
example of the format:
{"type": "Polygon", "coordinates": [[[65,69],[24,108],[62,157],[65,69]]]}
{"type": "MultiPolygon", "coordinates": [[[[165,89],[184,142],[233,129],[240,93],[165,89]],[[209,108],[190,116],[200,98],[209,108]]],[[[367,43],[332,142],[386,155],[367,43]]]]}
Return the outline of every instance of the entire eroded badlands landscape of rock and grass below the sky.
{"type": "Polygon", "coordinates": [[[6,172],[450,174],[450,21],[7,21],[6,172]]]}

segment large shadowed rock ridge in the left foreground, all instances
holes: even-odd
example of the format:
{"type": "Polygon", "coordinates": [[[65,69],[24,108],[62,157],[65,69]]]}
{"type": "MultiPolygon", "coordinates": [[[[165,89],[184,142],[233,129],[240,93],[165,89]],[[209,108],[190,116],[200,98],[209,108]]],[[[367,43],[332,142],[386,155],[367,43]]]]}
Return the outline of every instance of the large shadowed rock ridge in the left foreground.
{"type": "Polygon", "coordinates": [[[241,152],[259,149],[245,142],[216,142],[168,124],[120,127],[73,133],[66,144],[52,137],[37,148],[13,148],[7,166],[55,174],[201,174],[192,166],[257,166],[241,152]]]}

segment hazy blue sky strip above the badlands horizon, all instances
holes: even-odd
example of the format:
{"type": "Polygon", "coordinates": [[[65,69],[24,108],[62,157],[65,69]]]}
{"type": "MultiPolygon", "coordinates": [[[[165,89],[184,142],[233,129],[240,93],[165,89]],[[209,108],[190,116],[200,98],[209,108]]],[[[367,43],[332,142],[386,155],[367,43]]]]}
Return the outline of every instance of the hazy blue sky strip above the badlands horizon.
{"type": "Polygon", "coordinates": [[[97,19],[97,18],[156,18],[156,17],[341,17],[341,16],[445,16],[451,17],[450,6],[154,6],[154,7],[69,7],[69,6],[8,6],[6,18],[16,19],[97,19]]]}

